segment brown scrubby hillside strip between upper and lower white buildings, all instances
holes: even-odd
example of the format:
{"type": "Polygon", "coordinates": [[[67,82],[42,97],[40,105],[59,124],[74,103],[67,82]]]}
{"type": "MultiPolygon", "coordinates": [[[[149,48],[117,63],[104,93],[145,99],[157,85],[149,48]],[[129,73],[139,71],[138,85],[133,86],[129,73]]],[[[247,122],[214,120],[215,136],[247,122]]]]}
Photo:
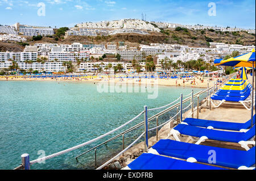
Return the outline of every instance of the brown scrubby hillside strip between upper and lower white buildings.
{"type": "MultiPolygon", "coordinates": [[[[136,33],[123,33],[112,36],[67,36],[60,37],[43,37],[42,40],[33,41],[31,37],[26,37],[27,43],[59,43],[72,44],[79,42],[82,44],[106,44],[108,42],[124,41],[129,47],[138,47],[139,44],[165,43],[165,44],[182,44],[189,47],[209,47],[209,42],[220,42],[226,44],[255,45],[255,34],[244,31],[240,32],[217,32],[214,30],[187,30],[185,28],[167,28],[161,32],[151,32],[150,35],[139,35],[136,33]]],[[[18,44],[0,43],[0,50],[18,51],[22,47],[18,44]]]]}

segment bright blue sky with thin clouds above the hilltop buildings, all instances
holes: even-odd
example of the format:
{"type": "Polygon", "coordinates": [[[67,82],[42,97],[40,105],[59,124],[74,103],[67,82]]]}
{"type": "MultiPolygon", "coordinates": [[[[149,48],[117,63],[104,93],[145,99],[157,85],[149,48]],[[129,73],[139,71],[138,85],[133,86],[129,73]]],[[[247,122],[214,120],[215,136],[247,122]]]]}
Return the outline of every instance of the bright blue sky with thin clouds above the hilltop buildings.
{"type": "Polygon", "coordinates": [[[0,0],[0,24],[74,27],[118,19],[255,29],[255,0],[0,0]],[[42,6],[45,5],[45,15],[42,6]],[[216,14],[209,16],[216,5],[216,14]]]}

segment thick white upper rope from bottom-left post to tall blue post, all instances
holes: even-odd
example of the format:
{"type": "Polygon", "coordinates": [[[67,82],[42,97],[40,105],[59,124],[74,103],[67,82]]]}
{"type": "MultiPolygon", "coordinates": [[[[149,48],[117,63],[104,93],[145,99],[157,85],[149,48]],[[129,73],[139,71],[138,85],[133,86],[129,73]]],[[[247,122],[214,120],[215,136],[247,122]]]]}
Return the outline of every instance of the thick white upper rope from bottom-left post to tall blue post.
{"type": "Polygon", "coordinates": [[[135,119],[137,119],[139,116],[141,116],[142,113],[144,113],[144,111],[142,111],[141,113],[139,113],[136,117],[134,117],[133,119],[131,119],[131,120],[128,121],[127,123],[121,125],[121,126],[118,127],[118,128],[113,129],[112,131],[110,131],[110,132],[108,132],[108,133],[106,133],[106,134],[103,134],[103,135],[101,135],[101,136],[99,136],[99,137],[97,137],[97,138],[94,138],[93,140],[84,142],[83,144],[80,144],[80,145],[77,145],[77,146],[73,146],[72,148],[65,149],[65,150],[63,150],[63,151],[59,151],[59,152],[57,152],[57,153],[48,155],[48,156],[43,157],[43,158],[35,159],[34,161],[31,161],[31,162],[30,162],[30,165],[32,165],[32,164],[34,164],[34,163],[46,161],[47,159],[54,158],[54,157],[57,157],[57,156],[59,156],[59,155],[61,155],[61,154],[68,153],[69,151],[73,151],[73,150],[79,149],[79,148],[81,148],[81,147],[84,147],[85,145],[92,144],[93,142],[98,141],[98,140],[100,140],[101,138],[104,138],[104,137],[108,136],[109,134],[112,134],[112,133],[114,133],[115,131],[118,131],[119,129],[125,127],[127,124],[131,123],[132,121],[134,121],[135,119]]]}

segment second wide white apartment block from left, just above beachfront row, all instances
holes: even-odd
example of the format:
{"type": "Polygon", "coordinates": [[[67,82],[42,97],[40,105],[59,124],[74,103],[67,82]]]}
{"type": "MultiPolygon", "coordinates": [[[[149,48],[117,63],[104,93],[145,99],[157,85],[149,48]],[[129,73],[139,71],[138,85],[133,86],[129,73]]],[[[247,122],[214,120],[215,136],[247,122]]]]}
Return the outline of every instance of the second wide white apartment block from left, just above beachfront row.
{"type": "Polygon", "coordinates": [[[49,61],[73,61],[76,59],[87,59],[89,60],[89,52],[50,52],[49,61]]]}

